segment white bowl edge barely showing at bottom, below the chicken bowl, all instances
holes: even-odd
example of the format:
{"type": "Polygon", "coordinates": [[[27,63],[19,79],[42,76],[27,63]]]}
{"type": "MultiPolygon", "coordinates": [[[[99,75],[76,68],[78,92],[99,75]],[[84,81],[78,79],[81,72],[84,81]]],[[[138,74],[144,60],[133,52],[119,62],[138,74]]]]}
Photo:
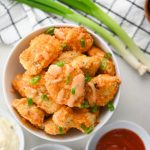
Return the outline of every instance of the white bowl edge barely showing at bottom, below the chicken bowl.
{"type": "Polygon", "coordinates": [[[43,144],[38,145],[31,150],[72,150],[70,147],[66,147],[60,144],[43,144]]]}

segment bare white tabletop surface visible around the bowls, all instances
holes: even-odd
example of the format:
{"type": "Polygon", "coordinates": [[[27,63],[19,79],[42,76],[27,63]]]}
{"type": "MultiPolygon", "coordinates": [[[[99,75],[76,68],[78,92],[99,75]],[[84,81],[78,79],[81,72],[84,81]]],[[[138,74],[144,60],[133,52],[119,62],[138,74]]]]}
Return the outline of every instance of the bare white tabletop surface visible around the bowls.
{"type": "MultiPolygon", "coordinates": [[[[2,83],[4,63],[9,52],[10,48],[0,46],[0,83],[2,83]]],[[[130,120],[138,123],[150,133],[150,74],[145,74],[140,77],[138,73],[129,67],[121,58],[117,57],[117,60],[122,79],[121,97],[119,106],[108,123],[114,122],[115,120],[130,120]]],[[[0,89],[0,108],[8,111],[4,104],[2,84],[0,84],[0,89]]],[[[27,131],[24,131],[24,133],[26,143],[25,150],[29,150],[39,144],[50,143],[31,135],[27,131]]],[[[74,150],[84,150],[87,140],[88,139],[84,139],[77,142],[66,143],[64,145],[68,145],[74,150]]]]}

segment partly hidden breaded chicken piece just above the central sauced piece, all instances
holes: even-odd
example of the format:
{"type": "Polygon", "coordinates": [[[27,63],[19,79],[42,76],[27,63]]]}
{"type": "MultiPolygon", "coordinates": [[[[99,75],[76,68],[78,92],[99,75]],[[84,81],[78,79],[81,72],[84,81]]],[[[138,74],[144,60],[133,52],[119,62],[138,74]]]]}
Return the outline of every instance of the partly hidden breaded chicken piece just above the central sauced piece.
{"type": "Polygon", "coordinates": [[[54,61],[54,64],[58,61],[62,61],[66,64],[72,62],[72,60],[78,56],[80,56],[81,53],[75,52],[75,51],[65,51],[63,52],[57,59],[54,61]]]}

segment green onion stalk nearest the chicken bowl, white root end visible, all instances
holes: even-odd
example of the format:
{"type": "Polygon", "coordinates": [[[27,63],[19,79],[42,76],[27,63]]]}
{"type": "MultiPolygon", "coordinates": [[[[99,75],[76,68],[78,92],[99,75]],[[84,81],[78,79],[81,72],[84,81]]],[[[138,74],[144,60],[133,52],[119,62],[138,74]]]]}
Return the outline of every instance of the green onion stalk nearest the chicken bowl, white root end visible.
{"type": "MultiPolygon", "coordinates": [[[[31,7],[39,8],[48,13],[54,13],[56,15],[62,16],[66,19],[78,22],[82,25],[87,26],[88,28],[95,31],[107,42],[109,42],[115,50],[138,72],[142,75],[147,71],[147,67],[141,64],[128,50],[126,50],[125,45],[115,38],[110,32],[106,29],[100,27],[95,22],[84,17],[81,14],[76,13],[75,11],[69,9],[65,5],[61,4],[58,1],[54,0],[16,0],[21,3],[25,3],[31,7]]],[[[72,1],[74,2],[74,1],[72,1]]]]}

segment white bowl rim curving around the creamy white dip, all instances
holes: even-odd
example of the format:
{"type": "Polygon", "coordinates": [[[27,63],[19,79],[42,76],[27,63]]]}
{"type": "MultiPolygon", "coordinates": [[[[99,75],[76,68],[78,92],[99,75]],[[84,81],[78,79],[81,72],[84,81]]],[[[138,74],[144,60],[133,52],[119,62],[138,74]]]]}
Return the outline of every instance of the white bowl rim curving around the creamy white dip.
{"type": "Polygon", "coordinates": [[[16,132],[19,139],[19,150],[24,150],[24,134],[21,127],[17,124],[17,122],[4,110],[0,110],[0,117],[3,117],[10,121],[13,125],[14,131],[16,132]]]}

